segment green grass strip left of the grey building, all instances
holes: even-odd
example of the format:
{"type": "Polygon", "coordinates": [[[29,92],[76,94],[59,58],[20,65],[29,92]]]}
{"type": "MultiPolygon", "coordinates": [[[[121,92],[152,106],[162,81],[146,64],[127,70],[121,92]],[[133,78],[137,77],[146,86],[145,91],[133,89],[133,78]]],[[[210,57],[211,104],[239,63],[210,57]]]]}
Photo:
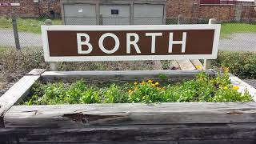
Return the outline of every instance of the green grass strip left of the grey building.
{"type": "MultiPolygon", "coordinates": [[[[62,24],[60,19],[54,19],[52,22],[54,25],[62,24]]],[[[17,25],[19,31],[41,34],[41,26],[44,25],[44,21],[36,18],[18,18],[17,25]]],[[[11,18],[0,18],[0,29],[10,30],[12,28],[11,18]]]]}

